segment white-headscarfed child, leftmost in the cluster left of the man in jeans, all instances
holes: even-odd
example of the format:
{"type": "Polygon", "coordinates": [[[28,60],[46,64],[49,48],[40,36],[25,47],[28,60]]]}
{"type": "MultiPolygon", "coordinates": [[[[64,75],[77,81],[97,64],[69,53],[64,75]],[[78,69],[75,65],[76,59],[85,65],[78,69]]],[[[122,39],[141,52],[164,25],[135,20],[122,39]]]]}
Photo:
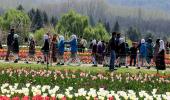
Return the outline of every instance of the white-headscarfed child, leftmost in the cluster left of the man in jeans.
{"type": "Polygon", "coordinates": [[[97,43],[96,40],[92,40],[92,61],[93,61],[93,66],[97,67],[97,62],[96,62],[96,53],[97,53],[97,43]]]}

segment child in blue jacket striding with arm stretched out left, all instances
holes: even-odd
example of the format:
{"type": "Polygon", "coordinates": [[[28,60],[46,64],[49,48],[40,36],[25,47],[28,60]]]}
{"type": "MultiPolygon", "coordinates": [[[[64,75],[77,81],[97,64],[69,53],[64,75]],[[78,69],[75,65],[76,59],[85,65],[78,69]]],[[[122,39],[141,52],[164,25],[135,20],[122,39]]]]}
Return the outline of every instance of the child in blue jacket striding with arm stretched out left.
{"type": "Polygon", "coordinates": [[[70,59],[68,60],[67,64],[70,65],[70,63],[73,61],[73,60],[76,60],[77,63],[78,63],[78,66],[80,66],[81,62],[80,62],[80,59],[78,58],[77,56],[77,51],[78,51],[78,47],[77,47],[77,36],[76,35],[72,35],[71,36],[71,40],[69,42],[65,42],[66,44],[70,44],[70,47],[71,47],[71,57],[70,59]]]}

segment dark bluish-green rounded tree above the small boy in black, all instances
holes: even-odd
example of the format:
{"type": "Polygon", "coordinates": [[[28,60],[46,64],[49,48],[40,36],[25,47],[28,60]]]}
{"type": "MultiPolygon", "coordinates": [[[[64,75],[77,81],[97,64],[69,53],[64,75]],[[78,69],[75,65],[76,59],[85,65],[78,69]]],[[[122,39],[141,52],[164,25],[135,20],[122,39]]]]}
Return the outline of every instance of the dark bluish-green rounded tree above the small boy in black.
{"type": "Polygon", "coordinates": [[[141,38],[141,34],[139,30],[135,27],[130,27],[127,31],[127,35],[131,41],[135,41],[135,42],[139,41],[141,38]]]}

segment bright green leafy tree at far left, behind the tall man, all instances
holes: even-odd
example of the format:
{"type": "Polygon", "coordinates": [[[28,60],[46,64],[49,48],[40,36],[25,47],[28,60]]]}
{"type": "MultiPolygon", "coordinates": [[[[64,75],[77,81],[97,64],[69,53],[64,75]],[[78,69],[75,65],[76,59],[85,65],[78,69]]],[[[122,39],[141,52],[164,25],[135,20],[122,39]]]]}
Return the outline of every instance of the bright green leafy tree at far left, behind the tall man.
{"type": "Polygon", "coordinates": [[[30,30],[30,19],[28,15],[15,9],[8,10],[3,15],[1,24],[3,30],[9,30],[11,26],[14,27],[16,32],[22,37],[26,37],[30,30]]]}

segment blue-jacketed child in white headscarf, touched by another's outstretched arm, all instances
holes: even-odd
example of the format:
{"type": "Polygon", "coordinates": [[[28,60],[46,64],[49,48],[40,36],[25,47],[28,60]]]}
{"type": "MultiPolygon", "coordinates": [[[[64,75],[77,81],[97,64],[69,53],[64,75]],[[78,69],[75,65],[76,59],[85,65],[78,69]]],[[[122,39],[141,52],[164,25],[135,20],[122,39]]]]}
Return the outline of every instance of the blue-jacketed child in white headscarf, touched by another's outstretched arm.
{"type": "Polygon", "coordinates": [[[59,56],[58,65],[64,65],[64,36],[62,35],[59,36],[58,56],[59,56]]]}

